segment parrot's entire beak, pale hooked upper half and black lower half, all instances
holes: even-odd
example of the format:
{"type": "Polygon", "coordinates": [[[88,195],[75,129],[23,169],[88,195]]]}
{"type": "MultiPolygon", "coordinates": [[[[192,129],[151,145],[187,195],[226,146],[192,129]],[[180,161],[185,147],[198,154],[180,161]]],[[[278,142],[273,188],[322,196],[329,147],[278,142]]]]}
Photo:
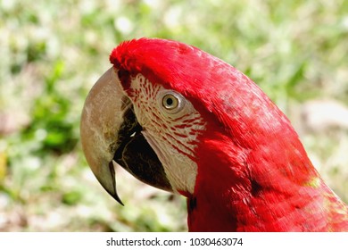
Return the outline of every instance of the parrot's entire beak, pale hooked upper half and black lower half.
{"type": "Polygon", "coordinates": [[[114,170],[117,164],[146,184],[172,191],[162,163],[142,129],[117,70],[109,69],[87,96],[80,134],[83,152],[96,179],[120,204],[114,170]]]}

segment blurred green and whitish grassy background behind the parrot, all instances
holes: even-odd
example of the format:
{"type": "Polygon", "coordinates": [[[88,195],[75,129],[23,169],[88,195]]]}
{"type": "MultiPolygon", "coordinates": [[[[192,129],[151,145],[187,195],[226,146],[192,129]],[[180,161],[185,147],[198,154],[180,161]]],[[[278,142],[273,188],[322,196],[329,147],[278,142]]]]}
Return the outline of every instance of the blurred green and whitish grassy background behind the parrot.
{"type": "Polygon", "coordinates": [[[0,231],[182,231],[186,204],[87,167],[79,118],[122,40],[163,37],[244,71],[348,201],[348,1],[0,0],[0,231]]]}

